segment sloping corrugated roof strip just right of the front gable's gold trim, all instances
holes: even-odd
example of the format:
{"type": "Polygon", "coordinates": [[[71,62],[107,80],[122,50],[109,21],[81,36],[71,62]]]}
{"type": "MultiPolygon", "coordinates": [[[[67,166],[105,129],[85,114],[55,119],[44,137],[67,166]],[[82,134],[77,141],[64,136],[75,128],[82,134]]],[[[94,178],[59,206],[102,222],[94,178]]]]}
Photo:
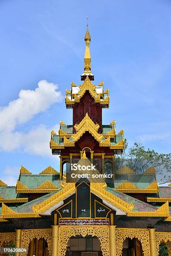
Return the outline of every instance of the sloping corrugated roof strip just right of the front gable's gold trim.
{"type": "Polygon", "coordinates": [[[158,209],[157,207],[135,199],[134,197],[125,195],[124,193],[111,189],[110,187],[107,187],[106,190],[129,204],[132,202],[134,205],[133,212],[154,212],[158,209]]]}

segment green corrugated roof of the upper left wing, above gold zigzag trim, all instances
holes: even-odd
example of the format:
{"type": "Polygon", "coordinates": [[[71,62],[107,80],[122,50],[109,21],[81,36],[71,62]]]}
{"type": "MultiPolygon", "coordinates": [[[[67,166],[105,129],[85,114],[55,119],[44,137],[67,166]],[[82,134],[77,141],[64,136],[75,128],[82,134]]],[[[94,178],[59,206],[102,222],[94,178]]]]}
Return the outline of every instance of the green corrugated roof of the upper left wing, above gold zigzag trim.
{"type": "Polygon", "coordinates": [[[19,179],[20,182],[30,189],[36,189],[47,180],[60,188],[59,174],[21,174],[19,179]]]}

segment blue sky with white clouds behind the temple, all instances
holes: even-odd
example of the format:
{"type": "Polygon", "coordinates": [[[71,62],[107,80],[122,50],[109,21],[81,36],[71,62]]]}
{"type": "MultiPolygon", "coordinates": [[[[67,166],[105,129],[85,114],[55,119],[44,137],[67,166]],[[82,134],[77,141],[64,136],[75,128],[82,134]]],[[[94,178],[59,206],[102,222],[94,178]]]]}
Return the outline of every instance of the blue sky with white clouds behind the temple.
{"type": "Polygon", "coordinates": [[[1,0],[0,179],[15,184],[20,165],[59,170],[50,131],[72,123],[64,94],[81,83],[87,15],[94,83],[110,90],[103,123],[171,152],[170,13],[170,0],[1,0]]]}

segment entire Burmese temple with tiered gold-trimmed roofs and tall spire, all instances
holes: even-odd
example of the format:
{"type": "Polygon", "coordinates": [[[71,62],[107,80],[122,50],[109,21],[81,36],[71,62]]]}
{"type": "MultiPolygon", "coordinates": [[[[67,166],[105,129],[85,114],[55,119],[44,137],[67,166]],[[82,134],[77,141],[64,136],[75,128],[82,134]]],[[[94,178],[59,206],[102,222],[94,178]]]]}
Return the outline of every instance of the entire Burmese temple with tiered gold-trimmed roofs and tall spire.
{"type": "Polygon", "coordinates": [[[164,243],[171,256],[171,184],[158,185],[154,166],[115,170],[124,132],[102,123],[110,95],[94,84],[88,24],[84,41],[80,85],[66,89],[73,121],[51,131],[60,168],[32,174],[21,166],[15,186],[0,181],[0,247],[27,249],[16,256],[157,256],[164,243]]]}

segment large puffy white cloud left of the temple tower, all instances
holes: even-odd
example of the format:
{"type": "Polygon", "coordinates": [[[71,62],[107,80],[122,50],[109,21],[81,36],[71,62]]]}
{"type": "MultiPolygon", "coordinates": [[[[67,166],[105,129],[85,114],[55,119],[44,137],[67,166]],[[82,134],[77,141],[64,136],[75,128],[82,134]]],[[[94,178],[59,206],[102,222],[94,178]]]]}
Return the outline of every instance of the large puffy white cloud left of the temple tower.
{"type": "Polygon", "coordinates": [[[21,90],[17,100],[0,108],[0,149],[6,152],[22,150],[39,156],[51,156],[50,131],[58,126],[39,125],[28,133],[15,131],[17,125],[27,123],[34,115],[62,101],[58,86],[46,80],[38,82],[36,90],[21,90]]]}

